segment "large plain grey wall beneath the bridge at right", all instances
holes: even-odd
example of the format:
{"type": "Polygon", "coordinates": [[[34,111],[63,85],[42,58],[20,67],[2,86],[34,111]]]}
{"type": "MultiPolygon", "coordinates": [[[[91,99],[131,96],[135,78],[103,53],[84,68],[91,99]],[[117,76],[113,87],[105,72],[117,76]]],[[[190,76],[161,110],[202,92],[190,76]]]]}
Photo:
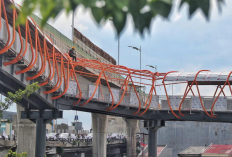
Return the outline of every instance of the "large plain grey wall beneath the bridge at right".
{"type": "Polygon", "coordinates": [[[189,146],[232,144],[232,124],[212,122],[166,122],[158,131],[158,145],[172,148],[172,157],[189,146]]]}

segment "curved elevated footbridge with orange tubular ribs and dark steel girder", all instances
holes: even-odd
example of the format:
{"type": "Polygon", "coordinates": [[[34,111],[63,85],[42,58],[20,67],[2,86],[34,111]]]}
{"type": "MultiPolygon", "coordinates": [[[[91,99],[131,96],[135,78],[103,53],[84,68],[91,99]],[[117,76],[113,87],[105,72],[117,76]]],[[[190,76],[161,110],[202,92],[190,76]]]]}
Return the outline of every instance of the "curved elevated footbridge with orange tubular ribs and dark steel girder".
{"type": "Polygon", "coordinates": [[[231,72],[153,73],[84,58],[74,62],[32,18],[15,26],[17,4],[3,0],[1,6],[0,92],[6,95],[35,81],[41,86],[19,102],[26,109],[23,118],[36,119],[45,110],[56,117],[62,114],[57,110],[80,110],[144,120],[231,122],[231,72]],[[16,8],[11,9],[11,4],[16,8]],[[183,95],[169,95],[166,86],[178,84],[186,86],[183,95]],[[217,88],[205,97],[199,86],[217,88]]]}

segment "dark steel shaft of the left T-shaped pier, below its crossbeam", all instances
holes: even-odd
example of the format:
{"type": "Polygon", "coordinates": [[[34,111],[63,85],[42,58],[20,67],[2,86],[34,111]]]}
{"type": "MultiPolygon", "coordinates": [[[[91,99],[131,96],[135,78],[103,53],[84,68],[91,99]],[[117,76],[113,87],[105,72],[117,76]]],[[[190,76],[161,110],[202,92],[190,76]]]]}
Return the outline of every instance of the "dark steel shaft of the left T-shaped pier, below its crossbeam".
{"type": "Polygon", "coordinates": [[[36,119],[36,147],[35,156],[44,157],[46,144],[46,124],[42,118],[36,119]]]}

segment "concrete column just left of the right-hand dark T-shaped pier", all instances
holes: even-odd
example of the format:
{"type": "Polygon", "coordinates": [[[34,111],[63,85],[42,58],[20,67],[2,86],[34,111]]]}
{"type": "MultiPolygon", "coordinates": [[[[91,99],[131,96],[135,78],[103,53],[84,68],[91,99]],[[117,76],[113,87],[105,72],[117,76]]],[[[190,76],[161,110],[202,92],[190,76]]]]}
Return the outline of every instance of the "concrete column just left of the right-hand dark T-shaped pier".
{"type": "Polygon", "coordinates": [[[138,120],[126,119],[126,130],[127,130],[127,157],[136,156],[136,133],[138,128],[138,120]]]}

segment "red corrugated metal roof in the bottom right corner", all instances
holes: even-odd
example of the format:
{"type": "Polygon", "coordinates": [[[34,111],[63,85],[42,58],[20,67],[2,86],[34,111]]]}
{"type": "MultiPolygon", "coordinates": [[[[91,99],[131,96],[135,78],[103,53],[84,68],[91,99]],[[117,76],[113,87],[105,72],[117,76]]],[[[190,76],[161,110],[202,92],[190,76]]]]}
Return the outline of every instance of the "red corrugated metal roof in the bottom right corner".
{"type": "Polygon", "coordinates": [[[231,154],[232,145],[211,145],[203,154],[231,154]]]}

